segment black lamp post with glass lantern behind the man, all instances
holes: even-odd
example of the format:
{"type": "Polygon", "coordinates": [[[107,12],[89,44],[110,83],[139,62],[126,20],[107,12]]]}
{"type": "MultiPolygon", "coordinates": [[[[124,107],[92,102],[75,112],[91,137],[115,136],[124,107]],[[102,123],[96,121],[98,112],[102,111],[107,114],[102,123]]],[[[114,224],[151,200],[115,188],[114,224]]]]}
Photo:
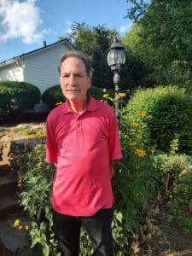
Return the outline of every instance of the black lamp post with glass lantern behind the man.
{"type": "Polygon", "coordinates": [[[113,44],[108,49],[108,66],[111,67],[113,72],[113,83],[115,86],[115,112],[116,116],[118,116],[119,112],[119,101],[118,101],[118,93],[119,93],[119,83],[120,83],[120,70],[121,66],[125,64],[125,51],[124,47],[119,44],[117,38],[113,38],[113,44]]]}

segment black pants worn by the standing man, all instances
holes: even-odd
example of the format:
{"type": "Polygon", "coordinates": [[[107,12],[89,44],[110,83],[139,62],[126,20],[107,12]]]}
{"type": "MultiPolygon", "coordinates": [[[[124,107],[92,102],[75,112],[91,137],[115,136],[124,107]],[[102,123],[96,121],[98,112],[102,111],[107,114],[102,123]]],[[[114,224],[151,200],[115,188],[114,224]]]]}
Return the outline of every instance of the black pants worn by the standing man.
{"type": "Polygon", "coordinates": [[[54,232],[61,256],[79,256],[81,225],[90,236],[94,256],[113,256],[112,219],[112,208],[102,209],[91,217],[73,217],[53,211],[54,232]]]}

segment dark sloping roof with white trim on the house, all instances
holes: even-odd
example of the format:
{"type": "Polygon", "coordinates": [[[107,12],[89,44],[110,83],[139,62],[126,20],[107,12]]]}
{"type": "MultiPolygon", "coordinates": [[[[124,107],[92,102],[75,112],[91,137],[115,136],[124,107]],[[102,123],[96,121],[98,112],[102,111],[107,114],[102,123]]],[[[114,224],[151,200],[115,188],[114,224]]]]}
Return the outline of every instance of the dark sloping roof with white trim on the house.
{"type": "Polygon", "coordinates": [[[38,48],[38,49],[34,49],[32,51],[29,51],[27,53],[24,53],[22,55],[19,55],[19,56],[15,56],[7,61],[3,61],[3,62],[0,62],[0,67],[3,67],[3,66],[7,66],[9,64],[12,64],[14,63],[15,61],[18,61],[20,59],[22,59],[23,57],[26,57],[27,55],[32,55],[34,53],[37,53],[37,52],[40,52],[40,51],[43,51],[44,49],[49,49],[51,47],[54,47],[55,45],[58,45],[58,44],[67,44],[67,46],[71,49],[74,49],[72,44],[69,44],[68,41],[65,39],[65,40],[61,40],[61,41],[58,41],[58,42],[55,42],[54,44],[46,44],[46,41],[44,41],[44,47],[41,47],[41,48],[38,48]]]}

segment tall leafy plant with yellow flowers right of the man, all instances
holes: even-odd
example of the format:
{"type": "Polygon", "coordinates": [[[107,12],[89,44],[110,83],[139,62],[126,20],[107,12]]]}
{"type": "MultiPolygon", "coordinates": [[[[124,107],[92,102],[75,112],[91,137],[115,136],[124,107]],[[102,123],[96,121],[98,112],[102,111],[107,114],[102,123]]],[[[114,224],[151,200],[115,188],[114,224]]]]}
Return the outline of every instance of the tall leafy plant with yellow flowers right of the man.
{"type": "MultiPolygon", "coordinates": [[[[125,104],[124,96],[119,94],[121,107],[125,104]]],[[[141,109],[135,113],[137,122],[130,123],[127,110],[125,108],[119,110],[123,159],[118,162],[113,177],[115,255],[127,255],[128,252],[134,255],[137,252],[137,243],[134,244],[132,240],[139,233],[140,224],[146,217],[142,209],[144,205],[148,205],[151,196],[156,194],[157,174],[152,164],[154,152],[153,148],[145,146],[146,130],[143,120],[146,115],[147,113],[141,109]]]]}

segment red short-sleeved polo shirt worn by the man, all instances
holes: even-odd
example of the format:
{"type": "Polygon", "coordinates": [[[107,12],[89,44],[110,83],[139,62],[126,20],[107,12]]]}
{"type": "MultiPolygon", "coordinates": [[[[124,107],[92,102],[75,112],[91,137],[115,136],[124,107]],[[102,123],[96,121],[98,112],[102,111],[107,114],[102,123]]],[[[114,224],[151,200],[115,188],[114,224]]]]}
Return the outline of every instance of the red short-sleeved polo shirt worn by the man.
{"type": "Polygon", "coordinates": [[[91,216],[113,207],[109,160],[122,157],[113,109],[90,97],[84,113],[67,102],[47,119],[46,161],[57,164],[52,195],[55,212],[91,216]]]}

